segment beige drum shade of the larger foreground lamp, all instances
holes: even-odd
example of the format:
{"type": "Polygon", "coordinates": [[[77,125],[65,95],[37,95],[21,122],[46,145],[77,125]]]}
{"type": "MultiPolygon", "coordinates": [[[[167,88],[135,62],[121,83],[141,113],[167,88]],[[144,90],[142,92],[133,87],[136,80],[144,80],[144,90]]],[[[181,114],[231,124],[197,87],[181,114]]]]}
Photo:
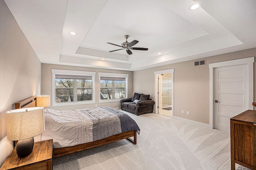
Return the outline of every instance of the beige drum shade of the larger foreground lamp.
{"type": "Polygon", "coordinates": [[[44,132],[44,108],[29,107],[6,112],[8,140],[22,140],[44,132]]]}

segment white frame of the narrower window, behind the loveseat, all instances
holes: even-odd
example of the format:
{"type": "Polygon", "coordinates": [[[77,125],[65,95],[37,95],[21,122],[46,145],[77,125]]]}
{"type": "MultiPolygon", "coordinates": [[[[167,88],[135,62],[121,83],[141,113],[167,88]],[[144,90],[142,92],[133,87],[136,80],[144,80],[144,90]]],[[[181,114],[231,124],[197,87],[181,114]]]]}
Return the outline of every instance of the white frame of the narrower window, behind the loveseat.
{"type": "MultiPolygon", "coordinates": [[[[99,72],[98,73],[99,75],[99,89],[98,89],[98,97],[99,97],[99,103],[106,103],[106,102],[116,102],[116,101],[120,101],[121,99],[124,99],[124,98],[121,98],[121,99],[105,99],[105,100],[102,100],[100,99],[100,78],[101,77],[118,77],[118,78],[125,78],[126,79],[126,85],[125,85],[125,98],[128,97],[128,87],[129,87],[129,74],[122,74],[122,73],[102,73],[102,72],[99,72]]],[[[112,88],[115,88],[113,87],[114,85],[112,85],[112,88]]],[[[113,95],[113,93],[112,93],[113,95]]]]}

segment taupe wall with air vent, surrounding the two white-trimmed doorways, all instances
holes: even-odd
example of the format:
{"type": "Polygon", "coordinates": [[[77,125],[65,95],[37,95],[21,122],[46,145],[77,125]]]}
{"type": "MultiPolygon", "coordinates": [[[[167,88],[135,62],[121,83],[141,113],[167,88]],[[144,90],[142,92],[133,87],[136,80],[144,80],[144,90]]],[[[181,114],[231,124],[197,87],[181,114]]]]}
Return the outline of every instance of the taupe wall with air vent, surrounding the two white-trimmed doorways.
{"type": "MultiPolygon", "coordinates": [[[[150,94],[154,96],[154,71],[174,69],[174,116],[209,124],[209,63],[228,61],[240,58],[255,57],[256,48],[226,53],[206,59],[206,65],[194,66],[194,61],[186,61],[161,67],[154,67],[134,71],[133,90],[135,92],[150,94]],[[189,111],[189,115],[182,114],[181,111],[189,111]]],[[[256,81],[256,66],[254,63],[254,84],[256,81]]],[[[256,89],[254,87],[254,99],[256,89]]],[[[253,102],[253,101],[250,101],[253,102]]]]}

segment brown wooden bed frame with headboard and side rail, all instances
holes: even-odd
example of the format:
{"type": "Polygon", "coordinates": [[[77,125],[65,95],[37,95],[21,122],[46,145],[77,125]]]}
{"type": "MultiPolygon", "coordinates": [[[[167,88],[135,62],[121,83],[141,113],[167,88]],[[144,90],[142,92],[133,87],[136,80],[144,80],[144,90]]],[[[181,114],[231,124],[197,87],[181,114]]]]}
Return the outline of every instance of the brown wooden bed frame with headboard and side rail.
{"type": "MultiPolygon", "coordinates": [[[[27,99],[24,99],[22,101],[15,103],[15,109],[27,108],[27,107],[36,107],[36,96],[28,97],[27,99]]],[[[79,144],[76,146],[64,147],[64,148],[54,148],[53,155],[54,155],[54,158],[56,158],[59,156],[64,156],[74,152],[79,152],[89,148],[94,148],[96,146],[101,146],[101,145],[108,144],[108,143],[115,142],[122,139],[128,139],[133,144],[136,144],[137,143],[136,135],[137,135],[136,130],[130,130],[128,132],[115,134],[113,136],[96,140],[94,142],[88,142],[88,143],[79,144]],[[133,140],[131,137],[133,137],[133,140]]]]}

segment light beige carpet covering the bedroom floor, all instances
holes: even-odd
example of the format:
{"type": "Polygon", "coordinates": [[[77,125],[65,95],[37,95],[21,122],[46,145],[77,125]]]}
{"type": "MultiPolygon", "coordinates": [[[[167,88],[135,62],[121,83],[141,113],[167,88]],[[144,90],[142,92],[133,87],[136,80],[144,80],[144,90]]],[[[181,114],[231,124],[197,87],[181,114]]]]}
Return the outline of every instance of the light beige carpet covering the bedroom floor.
{"type": "Polygon", "coordinates": [[[127,114],[140,127],[136,145],[124,139],[54,158],[53,169],[230,170],[230,133],[154,113],[127,114]]]}

